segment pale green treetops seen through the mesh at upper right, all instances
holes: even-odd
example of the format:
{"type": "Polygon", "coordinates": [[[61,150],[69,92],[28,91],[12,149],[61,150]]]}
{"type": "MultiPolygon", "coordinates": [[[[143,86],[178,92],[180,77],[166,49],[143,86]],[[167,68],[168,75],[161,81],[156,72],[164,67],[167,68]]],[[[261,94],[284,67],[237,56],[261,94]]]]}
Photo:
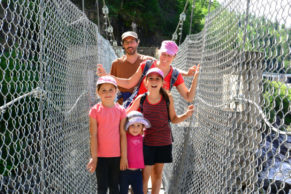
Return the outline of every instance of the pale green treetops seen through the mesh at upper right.
{"type": "Polygon", "coordinates": [[[283,24],[272,22],[264,17],[249,15],[245,26],[246,15],[222,10],[219,17],[211,20],[210,32],[223,31],[223,36],[217,38],[216,33],[208,33],[209,39],[216,38],[220,50],[252,51],[261,53],[265,71],[275,73],[290,73],[291,55],[289,42],[291,29],[283,24]],[[228,44],[226,44],[228,43],[228,44]]]}

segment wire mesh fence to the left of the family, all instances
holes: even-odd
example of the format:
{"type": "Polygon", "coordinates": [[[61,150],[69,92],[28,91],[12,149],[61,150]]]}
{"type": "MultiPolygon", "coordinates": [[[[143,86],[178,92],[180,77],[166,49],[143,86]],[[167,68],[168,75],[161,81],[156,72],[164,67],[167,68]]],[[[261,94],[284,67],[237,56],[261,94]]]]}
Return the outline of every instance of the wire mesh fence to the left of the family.
{"type": "Polygon", "coordinates": [[[0,193],[96,192],[88,111],[115,51],[67,0],[0,1],[0,35],[0,193]]]}

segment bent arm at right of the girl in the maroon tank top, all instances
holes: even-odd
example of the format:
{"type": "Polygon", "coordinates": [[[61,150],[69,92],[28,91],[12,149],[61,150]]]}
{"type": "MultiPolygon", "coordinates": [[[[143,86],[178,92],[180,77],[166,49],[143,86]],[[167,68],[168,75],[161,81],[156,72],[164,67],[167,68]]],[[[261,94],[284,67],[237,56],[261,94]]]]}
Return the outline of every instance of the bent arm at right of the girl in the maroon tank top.
{"type": "Polygon", "coordinates": [[[188,110],[181,115],[177,115],[174,107],[174,100],[172,95],[169,95],[170,105],[169,105],[169,114],[172,123],[180,123],[190,117],[194,111],[194,106],[188,106],[188,110]]]}

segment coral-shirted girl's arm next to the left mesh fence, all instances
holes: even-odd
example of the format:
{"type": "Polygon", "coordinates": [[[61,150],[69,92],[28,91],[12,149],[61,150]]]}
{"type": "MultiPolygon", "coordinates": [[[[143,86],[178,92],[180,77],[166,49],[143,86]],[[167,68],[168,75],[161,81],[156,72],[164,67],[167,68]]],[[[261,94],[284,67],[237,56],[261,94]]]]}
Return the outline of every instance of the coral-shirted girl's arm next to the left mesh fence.
{"type": "Polygon", "coordinates": [[[87,169],[90,173],[93,173],[97,166],[97,121],[91,117],[89,117],[89,119],[91,158],[87,164],[87,169]]]}

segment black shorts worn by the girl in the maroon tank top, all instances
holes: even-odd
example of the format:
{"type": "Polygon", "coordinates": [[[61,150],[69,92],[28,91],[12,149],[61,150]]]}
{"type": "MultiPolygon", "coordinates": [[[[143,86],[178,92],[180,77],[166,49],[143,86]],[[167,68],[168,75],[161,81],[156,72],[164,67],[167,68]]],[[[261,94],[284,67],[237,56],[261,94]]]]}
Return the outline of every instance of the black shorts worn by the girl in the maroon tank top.
{"type": "Polygon", "coordinates": [[[172,145],[167,146],[147,146],[143,145],[143,156],[145,165],[154,165],[156,163],[171,163],[172,145]]]}

